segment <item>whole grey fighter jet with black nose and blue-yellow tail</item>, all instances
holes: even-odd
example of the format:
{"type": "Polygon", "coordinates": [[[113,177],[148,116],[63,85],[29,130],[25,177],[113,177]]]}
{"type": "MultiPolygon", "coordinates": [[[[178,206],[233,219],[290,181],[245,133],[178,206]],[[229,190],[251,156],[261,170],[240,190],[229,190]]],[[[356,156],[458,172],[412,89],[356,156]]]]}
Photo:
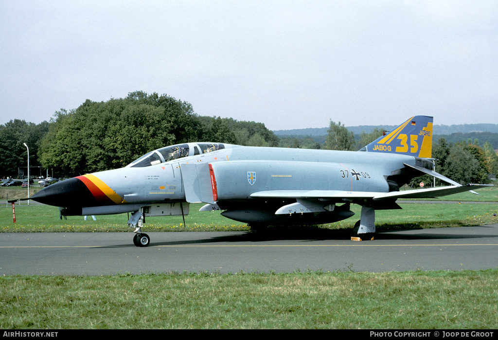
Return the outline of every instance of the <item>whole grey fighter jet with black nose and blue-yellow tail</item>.
{"type": "Polygon", "coordinates": [[[67,179],[30,199],[61,208],[65,216],[132,213],[133,242],[147,246],[142,221],[181,216],[189,204],[201,211],[262,225],[314,225],[354,215],[355,233],[370,239],[375,210],[401,209],[398,198],[432,198],[471,191],[433,171],[432,117],[414,116],[360,151],[183,143],[153,150],[121,169],[67,179]],[[400,191],[412,178],[429,174],[449,186],[400,191]]]}

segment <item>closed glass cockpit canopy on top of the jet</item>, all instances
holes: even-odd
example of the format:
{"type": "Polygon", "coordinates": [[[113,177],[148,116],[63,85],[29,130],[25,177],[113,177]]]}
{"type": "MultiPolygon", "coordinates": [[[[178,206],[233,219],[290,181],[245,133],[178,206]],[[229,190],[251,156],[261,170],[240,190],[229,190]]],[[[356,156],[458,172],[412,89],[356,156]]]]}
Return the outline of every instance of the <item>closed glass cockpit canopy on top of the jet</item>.
{"type": "Polygon", "coordinates": [[[143,168],[168,162],[174,159],[200,155],[202,153],[213,152],[225,148],[221,143],[184,143],[166,146],[161,149],[151,151],[127,165],[130,168],[143,168]]]}

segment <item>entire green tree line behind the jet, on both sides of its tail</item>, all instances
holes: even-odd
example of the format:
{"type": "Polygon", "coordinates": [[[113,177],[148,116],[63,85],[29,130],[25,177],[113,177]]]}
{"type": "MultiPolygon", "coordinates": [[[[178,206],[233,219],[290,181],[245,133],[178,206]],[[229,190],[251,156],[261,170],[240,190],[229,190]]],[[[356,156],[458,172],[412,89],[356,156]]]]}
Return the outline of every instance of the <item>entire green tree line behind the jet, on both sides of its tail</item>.
{"type": "MultiPolygon", "coordinates": [[[[26,166],[23,143],[29,146],[30,166],[69,177],[123,167],[146,152],[177,143],[359,150],[382,132],[376,128],[355,138],[341,122],[331,120],[323,144],[311,137],[279,138],[263,123],[199,116],[187,102],[136,91],[122,99],[87,100],[77,109],[61,109],[49,122],[14,119],[0,125],[0,176],[15,176],[18,167],[26,166]]],[[[490,143],[440,138],[433,143],[433,157],[437,172],[461,183],[482,183],[488,173],[498,172],[498,156],[490,143]]]]}

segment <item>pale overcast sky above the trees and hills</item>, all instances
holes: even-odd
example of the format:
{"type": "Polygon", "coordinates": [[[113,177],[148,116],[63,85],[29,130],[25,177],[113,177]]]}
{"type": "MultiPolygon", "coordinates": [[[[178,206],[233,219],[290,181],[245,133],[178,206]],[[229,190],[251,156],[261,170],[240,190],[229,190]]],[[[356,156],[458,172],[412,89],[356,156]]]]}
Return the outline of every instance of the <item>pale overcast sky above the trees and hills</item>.
{"type": "Polygon", "coordinates": [[[272,130],[498,123],[498,1],[0,1],[0,124],[166,94],[272,130]]]}

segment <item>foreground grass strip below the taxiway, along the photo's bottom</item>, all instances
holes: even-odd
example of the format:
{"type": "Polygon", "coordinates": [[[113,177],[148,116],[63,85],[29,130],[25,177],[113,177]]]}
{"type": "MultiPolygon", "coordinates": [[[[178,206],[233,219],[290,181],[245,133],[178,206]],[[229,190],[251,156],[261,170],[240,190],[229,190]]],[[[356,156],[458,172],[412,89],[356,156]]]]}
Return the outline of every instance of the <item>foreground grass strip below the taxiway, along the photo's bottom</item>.
{"type": "Polygon", "coordinates": [[[0,278],[1,329],[492,329],[498,270],[0,278]]]}

